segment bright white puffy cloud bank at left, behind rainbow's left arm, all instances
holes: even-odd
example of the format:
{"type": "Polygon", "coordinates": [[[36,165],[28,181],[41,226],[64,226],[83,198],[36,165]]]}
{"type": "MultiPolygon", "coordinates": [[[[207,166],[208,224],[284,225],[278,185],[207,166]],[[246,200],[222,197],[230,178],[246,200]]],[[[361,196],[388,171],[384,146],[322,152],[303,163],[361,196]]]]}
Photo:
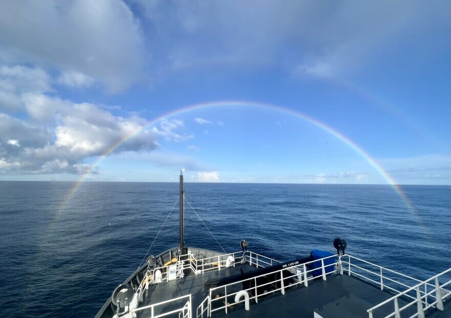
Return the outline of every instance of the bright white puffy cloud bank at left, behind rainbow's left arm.
{"type": "MultiPolygon", "coordinates": [[[[150,126],[136,115],[113,115],[108,107],[46,94],[51,77],[41,69],[25,66],[0,68],[0,90],[11,93],[16,111],[27,119],[0,112],[0,173],[96,173],[84,161],[111,152],[151,151],[158,138],[181,142],[193,135],[178,132],[179,120],[162,120],[150,126]],[[23,79],[23,81],[21,81],[23,79]]],[[[10,104],[8,104],[10,105],[10,104]]],[[[10,109],[0,101],[0,108],[10,109]]],[[[113,107],[114,108],[114,107],[113,107]]]]}

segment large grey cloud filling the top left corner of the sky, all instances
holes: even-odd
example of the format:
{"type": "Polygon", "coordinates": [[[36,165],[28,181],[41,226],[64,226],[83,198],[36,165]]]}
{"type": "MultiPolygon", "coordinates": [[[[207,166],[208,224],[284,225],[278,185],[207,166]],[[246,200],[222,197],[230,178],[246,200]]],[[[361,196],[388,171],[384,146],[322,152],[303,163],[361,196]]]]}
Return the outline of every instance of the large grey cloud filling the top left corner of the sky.
{"type": "Polygon", "coordinates": [[[111,92],[139,79],[146,56],[140,24],[120,0],[3,1],[0,40],[6,63],[56,68],[72,87],[95,78],[111,92]]]}

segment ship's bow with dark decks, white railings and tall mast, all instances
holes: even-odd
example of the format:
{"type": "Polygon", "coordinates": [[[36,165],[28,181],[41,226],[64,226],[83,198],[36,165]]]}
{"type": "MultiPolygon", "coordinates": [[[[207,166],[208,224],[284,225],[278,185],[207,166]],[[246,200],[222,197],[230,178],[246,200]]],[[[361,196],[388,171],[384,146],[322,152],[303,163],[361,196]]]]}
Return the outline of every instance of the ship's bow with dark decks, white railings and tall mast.
{"type": "Polygon", "coordinates": [[[451,317],[451,268],[419,280],[347,253],[340,237],[332,252],[287,252],[288,261],[252,251],[247,240],[230,253],[186,246],[183,171],[178,246],[150,255],[96,318],[451,317]]]}

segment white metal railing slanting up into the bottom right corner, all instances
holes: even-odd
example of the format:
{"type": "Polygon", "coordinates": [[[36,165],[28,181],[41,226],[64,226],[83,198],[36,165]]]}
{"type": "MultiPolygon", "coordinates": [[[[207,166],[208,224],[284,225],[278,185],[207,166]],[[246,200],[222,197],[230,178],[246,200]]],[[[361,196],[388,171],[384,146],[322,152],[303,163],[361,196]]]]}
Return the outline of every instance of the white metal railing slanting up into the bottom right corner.
{"type": "Polygon", "coordinates": [[[391,303],[393,302],[393,307],[394,307],[394,311],[385,316],[385,318],[389,318],[389,317],[393,317],[395,316],[395,318],[400,318],[401,317],[401,311],[413,306],[414,304],[417,305],[417,312],[413,315],[411,315],[410,317],[423,317],[424,318],[424,311],[426,311],[429,308],[437,308],[439,310],[443,310],[443,300],[446,299],[446,297],[449,297],[451,295],[451,291],[444,289],[445,286],[451,284],[451,279],[448,279],[444,284],[440,285],[439,284],[439,278],[443,278],[443,276],[445,274],[451,274],[451,268],[441,272],[440,274],[437,274],[435,276],[430,277],[429,279],[418,283],[415,286],[412,286],[406,290],[404,290],[403,292],[398,293],[397,295],[387,299],[386,301],[370,308],[367,310],[368,312],[368,316],[370,318],[373,317],[373,312],[380,308],[381,306],[391,303]],[[429,282],[434,282],[434,285],[430,284],[429,282]],[[434,286],[434,288],[432,290],[430,290],[429,292],[427,292],[427,286],[428,285],[432,285],[434,286]],[[422,291],[421,288],[424,286],[424,290],[425,292],[423,292],[423,295],[421,295],[422,291]],[[415,291],[416,293],[416,297],[414,298],[414,301],[408,303],[407,305],[404,305],[403,307],[399,308],[399,304],[398,304],[398,298],[399,297],[405,297],[405,296],[409,296],[408,293],[415,291]],[[433,295],[435,294],[435,295],[433,295]],[[427,303],[427,297],[433,297],[435,299],[435,301],[433,301],[432,303],[427,303]],[[425,307],[423,307],[423,304],[425,305],[425,307]]]}

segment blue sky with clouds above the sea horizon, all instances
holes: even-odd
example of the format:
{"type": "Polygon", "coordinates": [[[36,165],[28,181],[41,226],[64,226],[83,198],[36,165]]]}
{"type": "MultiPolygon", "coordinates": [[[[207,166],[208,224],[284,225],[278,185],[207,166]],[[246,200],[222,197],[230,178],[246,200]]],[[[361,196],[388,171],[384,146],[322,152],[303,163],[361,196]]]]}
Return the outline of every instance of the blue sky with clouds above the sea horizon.
{"type": "Polygon", "coordinates": [[[451,184],[450,7],[3,2],[0,180],[451,184]]]}

